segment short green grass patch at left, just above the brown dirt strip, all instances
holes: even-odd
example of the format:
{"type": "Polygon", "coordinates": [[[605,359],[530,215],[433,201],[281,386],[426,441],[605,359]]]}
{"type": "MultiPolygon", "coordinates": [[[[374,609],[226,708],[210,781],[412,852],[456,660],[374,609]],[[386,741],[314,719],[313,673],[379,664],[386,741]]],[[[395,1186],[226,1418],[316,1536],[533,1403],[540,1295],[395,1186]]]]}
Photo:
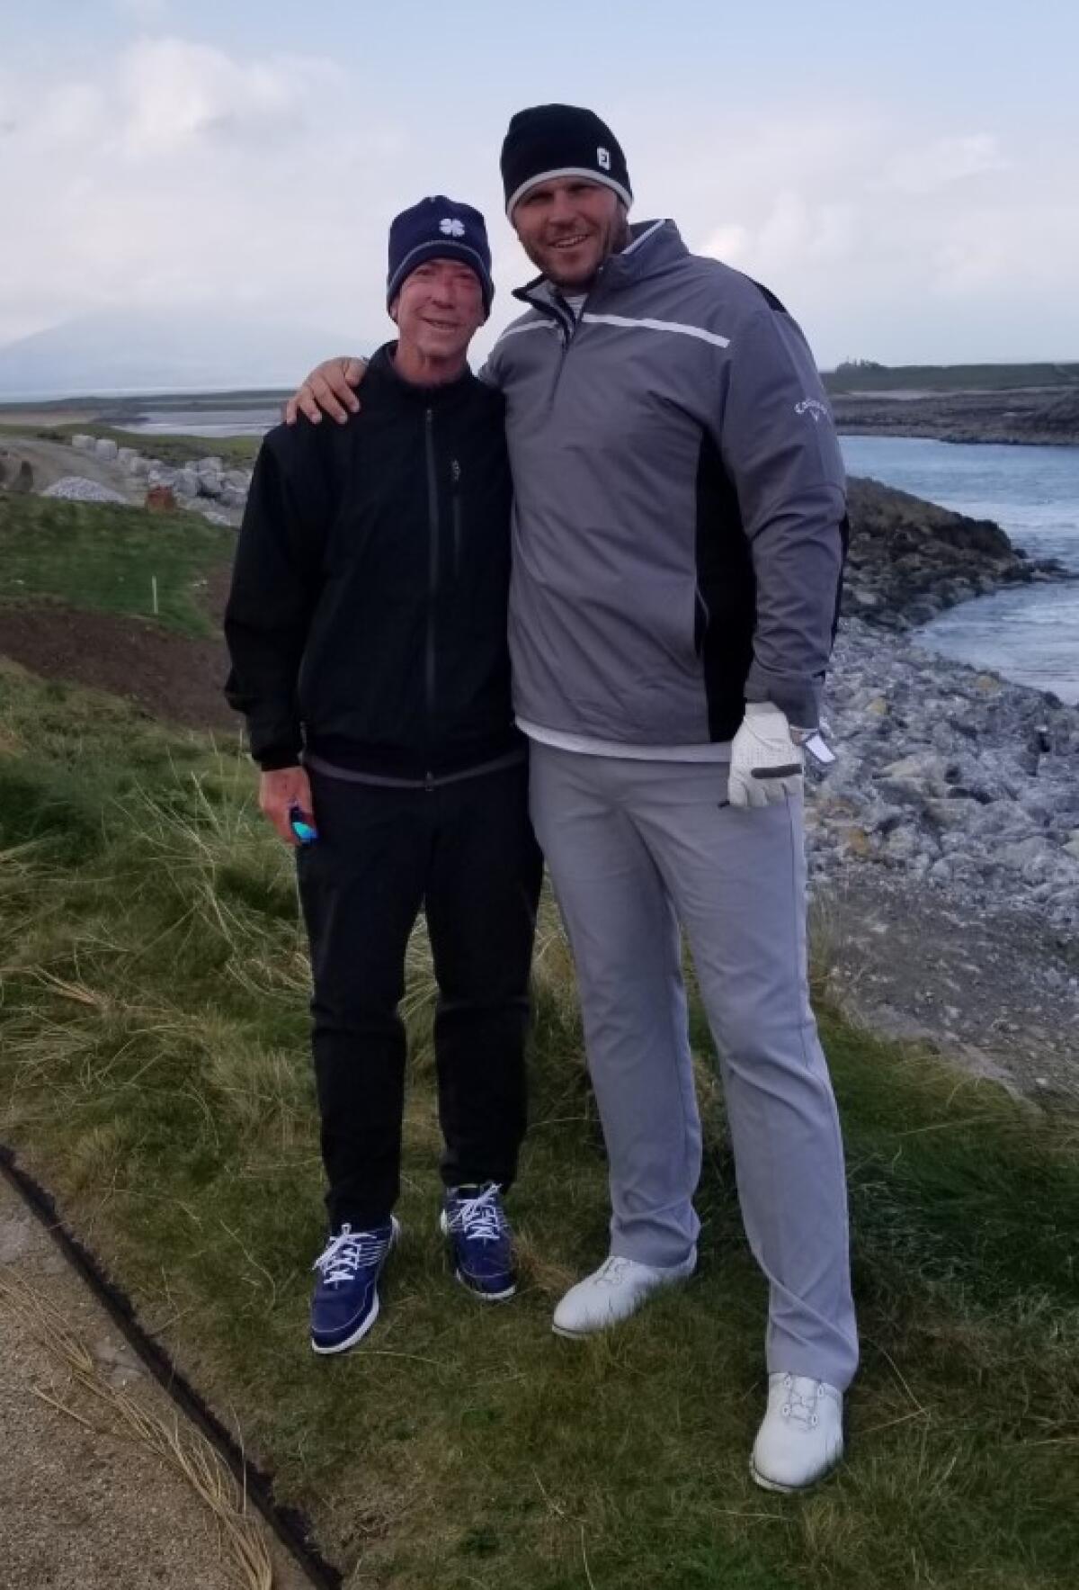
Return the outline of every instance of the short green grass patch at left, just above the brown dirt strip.
{"type": "Polygon", "coordinates": [[[208,634],[200,582],[235,549],[235,531],[200,514],[0,494],[0,603],[51,598],[68,606],[149,617],[208,634]]]}

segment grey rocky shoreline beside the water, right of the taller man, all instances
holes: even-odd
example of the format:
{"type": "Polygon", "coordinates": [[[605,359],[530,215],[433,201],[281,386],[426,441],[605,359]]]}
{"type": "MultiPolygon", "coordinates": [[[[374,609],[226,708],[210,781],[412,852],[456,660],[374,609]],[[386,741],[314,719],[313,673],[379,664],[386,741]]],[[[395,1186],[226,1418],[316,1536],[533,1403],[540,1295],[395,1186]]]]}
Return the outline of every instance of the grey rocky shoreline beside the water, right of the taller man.
{"type": "Polygon", "coordinates": [[[806,827],[830,992],[1015,1092],[1079,1105],[1079,708],[919,647],[920,623],[1062,579],[1000,526],[852,482],[806,827]]]}

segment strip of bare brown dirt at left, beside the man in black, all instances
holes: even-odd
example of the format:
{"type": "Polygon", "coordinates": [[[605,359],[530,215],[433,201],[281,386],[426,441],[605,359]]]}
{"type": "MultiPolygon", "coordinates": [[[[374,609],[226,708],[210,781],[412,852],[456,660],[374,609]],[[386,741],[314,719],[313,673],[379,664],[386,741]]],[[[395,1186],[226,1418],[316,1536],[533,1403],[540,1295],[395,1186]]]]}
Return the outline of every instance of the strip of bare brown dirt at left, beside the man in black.
{"type": "Polygon", "coordinates": [[[44,679],[91,685],[186,728],[237,730],[224,642],[59,604],[0,606],[0,653],[44,679]]]}

